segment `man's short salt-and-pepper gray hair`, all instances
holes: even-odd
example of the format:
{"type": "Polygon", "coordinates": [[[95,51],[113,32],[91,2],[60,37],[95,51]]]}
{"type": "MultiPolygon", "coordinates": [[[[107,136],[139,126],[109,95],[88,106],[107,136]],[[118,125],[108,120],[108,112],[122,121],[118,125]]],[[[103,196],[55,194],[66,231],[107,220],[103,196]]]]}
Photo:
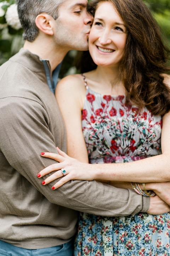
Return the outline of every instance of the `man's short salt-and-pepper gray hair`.
{"type": "Polygon", "coordinates": [[[66,0],[17,0],[18,16],[24,29],[23,39],[33,42],[38,36],[36,17],[45,12],[55,20],[58,18],[58,7],[66,0]]]}

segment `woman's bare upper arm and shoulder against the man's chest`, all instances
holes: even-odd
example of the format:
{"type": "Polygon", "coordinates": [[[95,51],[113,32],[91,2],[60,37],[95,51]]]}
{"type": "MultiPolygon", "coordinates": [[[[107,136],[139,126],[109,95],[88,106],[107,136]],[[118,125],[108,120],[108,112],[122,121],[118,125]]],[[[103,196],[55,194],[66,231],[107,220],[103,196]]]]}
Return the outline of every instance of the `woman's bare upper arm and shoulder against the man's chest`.
{"type": "Polygon", "coordinates": [[[81,126],[81,111],[86,88],[81,75],[63,78],[56,88],[56,99],[67,131],[67,153],[70,157],[88,163],[87,148],[81,126]]]}

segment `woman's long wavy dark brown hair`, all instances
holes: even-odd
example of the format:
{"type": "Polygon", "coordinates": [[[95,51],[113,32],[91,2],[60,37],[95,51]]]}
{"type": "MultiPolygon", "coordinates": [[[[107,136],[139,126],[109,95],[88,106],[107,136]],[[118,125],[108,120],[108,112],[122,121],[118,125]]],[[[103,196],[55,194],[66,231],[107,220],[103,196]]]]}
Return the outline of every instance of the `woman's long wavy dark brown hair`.
{"type": "MultiPolygon", "coordinates": [[[[170,89],[163,82],[163,73],[170,49],[163,43],[159,26],[142,0],[93,0],[88,11],[94,16],[98,4],[111,2],[128,31],[120,72],[127,92],[127,100],[140,109],[146,107],[155,115],[170,110],[170,89]]],[[[89,53],[83,53],[81,72],[95,69],[89,53]]]]}

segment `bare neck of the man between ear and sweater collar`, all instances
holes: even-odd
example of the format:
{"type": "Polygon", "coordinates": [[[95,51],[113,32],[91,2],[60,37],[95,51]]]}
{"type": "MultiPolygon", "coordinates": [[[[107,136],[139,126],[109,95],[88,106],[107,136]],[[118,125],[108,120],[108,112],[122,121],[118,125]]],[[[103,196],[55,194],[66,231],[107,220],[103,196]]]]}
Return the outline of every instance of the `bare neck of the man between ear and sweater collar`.
{"type": "Polygon", "coordinates": [[[41,40],[40,38],[35,39],[33,42],[26,40],[23,48],[38,55],[41,59],[49,60],[52,71],[60,64],[68,52],[68,50],[57,49],[50,40],[41,40]]]}

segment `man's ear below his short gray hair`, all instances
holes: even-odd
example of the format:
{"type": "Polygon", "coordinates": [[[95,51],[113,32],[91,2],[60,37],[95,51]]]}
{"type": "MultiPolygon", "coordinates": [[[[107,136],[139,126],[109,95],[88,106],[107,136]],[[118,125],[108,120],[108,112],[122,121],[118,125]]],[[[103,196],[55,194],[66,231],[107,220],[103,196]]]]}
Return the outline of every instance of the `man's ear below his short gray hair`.
{"type": "Polygon", "coordinates": [[[39,14],[35,19],[36,26],[45,34],[53,35],[53,17],[47,13],[39,14]]]}

